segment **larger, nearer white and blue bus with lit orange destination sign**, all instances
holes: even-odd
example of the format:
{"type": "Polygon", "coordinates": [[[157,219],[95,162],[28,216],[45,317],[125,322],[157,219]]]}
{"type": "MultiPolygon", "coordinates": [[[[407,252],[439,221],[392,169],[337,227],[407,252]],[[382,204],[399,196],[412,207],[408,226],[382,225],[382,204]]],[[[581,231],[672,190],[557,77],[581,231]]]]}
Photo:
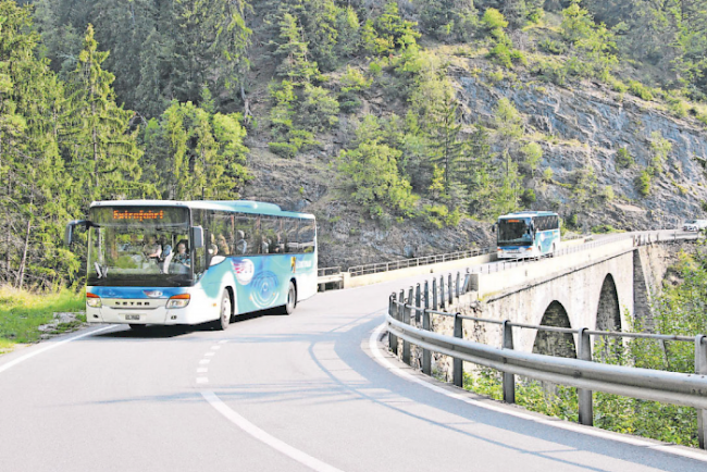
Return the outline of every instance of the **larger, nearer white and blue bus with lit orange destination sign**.
{"type": "Polygon", "coordinates": [[[213,322],[317,293],[314,216],[256,201],[98,201],[88,220],[89,323],[213,322]]]}

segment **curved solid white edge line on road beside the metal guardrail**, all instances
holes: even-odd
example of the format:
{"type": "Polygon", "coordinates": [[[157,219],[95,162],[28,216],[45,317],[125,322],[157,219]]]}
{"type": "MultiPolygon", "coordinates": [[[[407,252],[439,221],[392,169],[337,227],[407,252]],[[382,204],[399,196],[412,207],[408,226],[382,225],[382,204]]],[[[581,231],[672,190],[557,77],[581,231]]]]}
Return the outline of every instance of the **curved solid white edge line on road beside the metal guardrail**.
{"type": "Polygon", "coordinates": [[[580,433],[580,434],[587,434],[590,436],[596,436],[600,437],[603,439],[608,439],[608,440],[617,440],[620,443],[625,443],[630,444],[633,446],[640,446],[640,447],[645,447],[649,449],[656,449],[665,452],[669,452],[675,456],[682,456],[686,457],[690,459],[695,459],[699,460],[703,462],[707,462],[707,455],[700,452],[700,451],[692,451],[687,449],[679,449],[675,446],[668,445],[668,444],[656,444],[656,443],[650,443],[647,440],[643,440],[640,438],[631,437],[631,436],[622,436],[619,433],[609,433],[599,428],[593,428],[588,426],[580,426],[576,424],[563,422],[561,420],[545,420],[543,418],[538,418],[532,414],[523,413],[522,411],[514,411],[511,408],[504,408],[499,407],[493,403],[488,403],[486,401],[479,401],[473,398],[469,398],[468,396],[460,395],[460,394],[455,394],[452,392],[447,390],[446,388],[442,388],[437,385],[434,385],[430,382],[426,382],[424,380],[421,380],[417,377],[415,375],[411,375],[410,373],[404,371],[402,369],[398,368],[397,365],[394,365],[390,361],[388,361],[383,353],[381,352],[381,349],[379,349],[379,339],[381,335],[383,334],[383,331],[386,328],[386,323],[383,323],[379,327],[376,327],[373,333],[371,334],[371,337],[369,338],[369,350],[373,353],[373,357],[375,360],[381,363],[383,367],[388,369],[390,372],[394,374],[404,377],[410,382],[414,382],[415,384],[422,385],[425,388],[429,388],[431,390],[434,390],[438,394],[445,395],[449,398],[454,398],[457,400],[461,400],[466,403],[473,405],[474,407],[479,408],[485,408],[486,410],[492,410],[496,411],[499,413],[504,414],[510,414],[512,417],[521,418],[523,420],[529,420],[529,421],[534,421],[536,423],[545,424],[548,426],[553,427],[559,427],[561,430],[568,430],[572,431],[574,433],[580,433]]]}

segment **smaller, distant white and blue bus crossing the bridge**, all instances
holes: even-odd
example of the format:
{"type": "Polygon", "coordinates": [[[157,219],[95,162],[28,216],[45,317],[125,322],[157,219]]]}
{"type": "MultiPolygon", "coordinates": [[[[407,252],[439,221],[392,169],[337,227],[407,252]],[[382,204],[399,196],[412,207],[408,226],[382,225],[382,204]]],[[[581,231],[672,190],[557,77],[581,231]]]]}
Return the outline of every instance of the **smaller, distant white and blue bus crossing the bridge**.
{"type": "Polygon", "coordinates": [[[523,211],[498,218],[499,259],[554,256],[560,247],[560,218],[549,211],[523,211]]]}

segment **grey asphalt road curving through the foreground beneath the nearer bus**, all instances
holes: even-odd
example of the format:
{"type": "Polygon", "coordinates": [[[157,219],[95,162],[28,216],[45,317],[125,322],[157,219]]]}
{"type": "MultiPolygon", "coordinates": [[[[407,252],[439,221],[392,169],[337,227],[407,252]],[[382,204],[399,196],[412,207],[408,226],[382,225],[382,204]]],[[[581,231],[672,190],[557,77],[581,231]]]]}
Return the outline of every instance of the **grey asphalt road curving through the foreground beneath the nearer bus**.
{"type": "Polygon", "coordinates": [[[319,294],[226,332],[100,326],[2,356],[0,470],[707,470],[702,451],[406,376],[371,335],[388,295],[419,281],[319,294]]]}

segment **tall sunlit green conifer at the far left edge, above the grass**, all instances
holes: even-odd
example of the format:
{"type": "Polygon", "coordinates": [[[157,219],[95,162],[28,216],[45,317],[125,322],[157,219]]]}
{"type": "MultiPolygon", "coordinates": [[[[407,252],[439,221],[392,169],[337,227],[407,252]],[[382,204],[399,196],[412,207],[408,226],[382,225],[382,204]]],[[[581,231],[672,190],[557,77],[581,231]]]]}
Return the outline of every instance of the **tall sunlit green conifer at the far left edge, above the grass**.
{"type": "Polygon", "coordinates": [[[78,270],[62,247],[76,210],[61,158],[64,88],[37,60],[27,8],[0,1],[0,283],[55,287],[78,270]]]}

